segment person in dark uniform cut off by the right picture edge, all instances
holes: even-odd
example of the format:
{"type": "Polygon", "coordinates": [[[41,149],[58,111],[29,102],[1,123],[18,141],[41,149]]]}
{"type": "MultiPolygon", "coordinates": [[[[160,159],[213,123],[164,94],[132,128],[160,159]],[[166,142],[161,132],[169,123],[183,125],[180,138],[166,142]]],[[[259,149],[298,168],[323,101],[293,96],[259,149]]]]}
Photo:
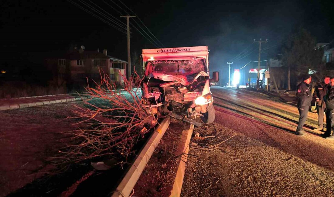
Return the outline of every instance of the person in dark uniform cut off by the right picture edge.
{"type": "Polygon", "coordinates": [[[334,78],[330,78],[330,86],[328,93],[324,100],[326,102],[326,132],[322,136],[329,140],[334,140],[334,136],[331,136],[332,130],[334,130],[334,78]]]}

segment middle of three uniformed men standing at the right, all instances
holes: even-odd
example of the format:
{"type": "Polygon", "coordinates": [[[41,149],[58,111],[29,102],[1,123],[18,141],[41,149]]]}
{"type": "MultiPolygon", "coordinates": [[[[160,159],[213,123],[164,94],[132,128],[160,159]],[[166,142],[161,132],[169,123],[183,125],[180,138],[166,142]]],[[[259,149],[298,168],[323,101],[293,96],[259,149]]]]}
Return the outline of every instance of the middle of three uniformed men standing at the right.
{"type": "Polygon", "coordinates": [[[315,91],[313,93],[313,98],[317,102],[318,107],[318,128],[313,130],[322,131],[324,129],[324,112],[326,111],[326,103],[324,101],[324,96],[326,96],[328,92],[329,85],[329,76],[325,76],[324,81],[320,82],[319,85],[315,87],[315,91]]]}

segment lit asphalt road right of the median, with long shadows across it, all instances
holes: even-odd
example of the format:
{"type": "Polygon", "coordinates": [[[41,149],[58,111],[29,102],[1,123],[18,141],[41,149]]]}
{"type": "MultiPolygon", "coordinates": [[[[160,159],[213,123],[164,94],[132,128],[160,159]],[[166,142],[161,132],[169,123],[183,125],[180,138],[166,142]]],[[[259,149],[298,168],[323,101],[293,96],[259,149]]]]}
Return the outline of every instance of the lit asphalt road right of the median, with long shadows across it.
{"type": "Polygon", "coordinates": [[[314,132],[297,136],[298,110],[265,94],[212,87],[216,119],[195,128],[181,196],[334,196],[334,141],[314,132]]]}

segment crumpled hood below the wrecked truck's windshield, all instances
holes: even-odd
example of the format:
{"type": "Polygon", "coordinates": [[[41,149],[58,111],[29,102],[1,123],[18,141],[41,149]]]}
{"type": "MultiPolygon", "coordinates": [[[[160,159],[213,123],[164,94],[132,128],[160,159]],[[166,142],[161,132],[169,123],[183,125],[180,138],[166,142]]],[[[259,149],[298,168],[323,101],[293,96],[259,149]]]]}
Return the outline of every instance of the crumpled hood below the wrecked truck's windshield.
{"type": "Polygon", "coordinates": [[[149,77],[154,77],[155,79],[160,79],[163,81],[177,81],[182,85],[192,84],[199,76],[210,77],[206,72],[201,71],[193,76],[183,76],[183,75],[168,75],[164,73],[154,73],[152,72],[149,77]]]}

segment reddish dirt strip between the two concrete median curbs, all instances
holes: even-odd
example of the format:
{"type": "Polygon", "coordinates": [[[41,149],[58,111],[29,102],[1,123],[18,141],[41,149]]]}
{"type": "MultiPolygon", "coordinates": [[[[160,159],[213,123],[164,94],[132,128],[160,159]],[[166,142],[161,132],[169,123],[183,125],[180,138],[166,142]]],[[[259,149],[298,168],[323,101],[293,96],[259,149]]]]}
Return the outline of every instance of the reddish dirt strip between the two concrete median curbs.
{"type": "Polygon", "coordinates": [[[181,156],[175,156],[182,130],[188,124],[171,119],[166,133],[155,149],[136,186],[134,196],[169,196],[181,156]]]}

